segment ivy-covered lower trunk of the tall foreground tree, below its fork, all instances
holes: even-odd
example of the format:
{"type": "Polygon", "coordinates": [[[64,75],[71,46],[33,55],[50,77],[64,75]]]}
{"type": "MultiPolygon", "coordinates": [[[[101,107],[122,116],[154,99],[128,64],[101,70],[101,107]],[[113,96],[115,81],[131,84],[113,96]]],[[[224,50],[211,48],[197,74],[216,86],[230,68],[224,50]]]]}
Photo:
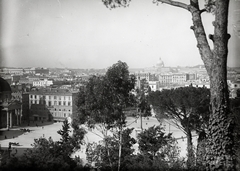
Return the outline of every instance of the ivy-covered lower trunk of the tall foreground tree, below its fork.
{"type": "Polygon", "coordinates": [[[223,69],[224,60],[220,54],[215,54],[215,68],[210,75],[212,112],[208,125],[207,167],[209,170],[234,170],[233,160],[233,124],[230,119],[228,87],[226,72],[223,69]],[[217,86],[216,86],[217,85],[217,86]]]}

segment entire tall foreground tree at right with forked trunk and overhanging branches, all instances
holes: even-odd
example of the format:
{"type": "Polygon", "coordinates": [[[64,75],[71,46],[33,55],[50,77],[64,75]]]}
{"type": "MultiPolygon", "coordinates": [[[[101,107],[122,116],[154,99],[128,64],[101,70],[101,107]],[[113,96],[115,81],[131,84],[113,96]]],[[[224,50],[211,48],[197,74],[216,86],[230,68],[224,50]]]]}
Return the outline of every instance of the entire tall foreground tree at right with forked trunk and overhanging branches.
{"type": "MultiPolygon", "coordinates": [[[[102,0],[108,8],[127,7],[131,0],[102,0]]],[[[206,169],[236,170],[233,150],[233,122],[231,118],[229,92],[227,85],[227,56],[229,0],[205,0],[201,9],[198,0],[189,0],[189,4],[172,0],[154,0],[155,4],[166,3],[190,12],[197,48],[210,77],[211,114],[207,134],[206,169]],[[214,34],[208,37],[213,42],[210,48],[201,14],[213,12],[214,34]]]]}

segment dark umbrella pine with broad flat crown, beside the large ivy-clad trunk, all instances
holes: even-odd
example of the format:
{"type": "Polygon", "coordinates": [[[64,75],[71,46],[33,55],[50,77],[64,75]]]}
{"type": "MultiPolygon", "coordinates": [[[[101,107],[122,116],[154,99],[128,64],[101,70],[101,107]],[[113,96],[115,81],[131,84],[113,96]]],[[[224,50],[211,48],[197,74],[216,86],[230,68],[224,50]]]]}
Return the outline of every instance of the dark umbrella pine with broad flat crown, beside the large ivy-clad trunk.
{"type": "Polygon", "coordinates": [[[173,119],[187,136],[188,166],[194,164],[192,131],[205,131],[209,117],[210,92],[207,88],[180,87],[151,92],[149,101],[157,114],[173,119]]]}

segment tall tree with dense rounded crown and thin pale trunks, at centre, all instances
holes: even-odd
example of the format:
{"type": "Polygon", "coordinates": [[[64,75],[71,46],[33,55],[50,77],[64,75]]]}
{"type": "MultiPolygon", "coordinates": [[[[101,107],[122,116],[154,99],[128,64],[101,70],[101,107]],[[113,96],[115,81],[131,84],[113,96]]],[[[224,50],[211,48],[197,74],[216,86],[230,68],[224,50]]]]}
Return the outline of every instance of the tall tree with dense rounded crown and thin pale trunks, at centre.
{"type": "MultiPolygon", "coordinates": [[[[104,138],[108,137],[110,129],[119,131],[119,167],[121,162],[122,131],[126,125],[124,109],[134,105],[131,90],[134,89],[135,77],[129,75],[126,63],[118,61],[106,72],[105,76],[93,76],[89,79],[85,89],[78,95],[78,119],[80,123],[87,123],[89,127],[96,124],[102,128],[104,138]]],[[[108,147],[109,142],[105,141],[108,147]]],[[[108,149],[107,156],[110,166],[111,156],[108,149]]]]}

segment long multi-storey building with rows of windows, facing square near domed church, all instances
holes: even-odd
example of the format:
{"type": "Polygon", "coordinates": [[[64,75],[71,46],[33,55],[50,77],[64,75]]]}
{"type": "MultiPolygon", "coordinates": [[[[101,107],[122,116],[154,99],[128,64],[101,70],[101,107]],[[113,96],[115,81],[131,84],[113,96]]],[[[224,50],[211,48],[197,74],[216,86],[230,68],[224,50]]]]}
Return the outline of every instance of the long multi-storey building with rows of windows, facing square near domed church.
{"type": "Polygon", "coordinates": [[[29,92],[30,120],[63,121],[76,112],[76,90],[39,89],[29,92]]]}

